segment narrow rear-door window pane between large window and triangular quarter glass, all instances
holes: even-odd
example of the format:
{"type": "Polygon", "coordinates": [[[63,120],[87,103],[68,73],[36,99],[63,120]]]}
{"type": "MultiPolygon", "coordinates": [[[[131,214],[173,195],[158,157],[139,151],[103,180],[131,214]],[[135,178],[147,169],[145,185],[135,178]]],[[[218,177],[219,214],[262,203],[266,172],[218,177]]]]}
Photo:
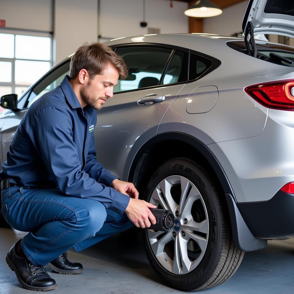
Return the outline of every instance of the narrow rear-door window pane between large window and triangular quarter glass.
{"type": "Polygon", "coordinates": [[[175,51],[163,78],[163,85],[185,82],[188,80],[188,53],[175,51]]]}

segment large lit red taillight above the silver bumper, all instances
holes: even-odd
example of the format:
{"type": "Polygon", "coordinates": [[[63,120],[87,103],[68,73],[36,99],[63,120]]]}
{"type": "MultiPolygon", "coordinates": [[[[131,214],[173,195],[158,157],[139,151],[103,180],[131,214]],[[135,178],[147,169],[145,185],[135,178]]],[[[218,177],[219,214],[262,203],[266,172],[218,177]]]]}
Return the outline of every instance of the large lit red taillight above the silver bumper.
{"type": "Polygon", "coordinates": [[[294,110],[294,80],[252,85],[245,92],[265,107],[294,110]]]}

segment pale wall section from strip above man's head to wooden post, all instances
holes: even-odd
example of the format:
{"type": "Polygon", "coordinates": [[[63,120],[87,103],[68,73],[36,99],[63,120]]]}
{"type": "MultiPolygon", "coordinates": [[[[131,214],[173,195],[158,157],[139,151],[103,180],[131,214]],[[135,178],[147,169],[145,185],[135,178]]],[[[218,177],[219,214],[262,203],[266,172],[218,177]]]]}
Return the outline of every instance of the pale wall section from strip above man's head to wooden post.
{"type": "Polygon", "coordinates": [[[113,39],[148,34],[149,28],[158,28],[160,33],[188,33],[188,17],[184,11],[188,3],[166,0],[145,1],[145,21],[142,28],[143,0],[100,0],[100,32],[103,39],[113,39]]]}

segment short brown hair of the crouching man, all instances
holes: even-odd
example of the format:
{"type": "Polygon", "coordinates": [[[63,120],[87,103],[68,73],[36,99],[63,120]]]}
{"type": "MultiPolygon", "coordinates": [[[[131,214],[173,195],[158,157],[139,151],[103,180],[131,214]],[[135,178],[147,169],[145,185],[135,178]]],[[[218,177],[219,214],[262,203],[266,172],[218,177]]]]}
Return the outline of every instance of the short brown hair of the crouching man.
{"type": "Polygon", "coordinates": [[[90,45],[86,42],[71,57],[69,77],[75,79],[81,69],[86,69],[90,79],[92,79],[96,74],[101,74],[109,65],[118,71],[121,79],[128,76],[128,70],[123,59],[110,47],[98,42],[90,45]]]}

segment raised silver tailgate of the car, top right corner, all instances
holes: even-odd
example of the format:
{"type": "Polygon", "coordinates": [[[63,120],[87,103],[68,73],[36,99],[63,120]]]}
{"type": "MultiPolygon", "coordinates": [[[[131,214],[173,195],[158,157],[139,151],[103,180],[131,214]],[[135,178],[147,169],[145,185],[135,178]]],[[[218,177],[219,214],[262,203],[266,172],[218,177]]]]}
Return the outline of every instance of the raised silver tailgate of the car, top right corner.
{"type": "Polygon", "coordinates": [[[246,9],[242,30],[253,24],[253,33],[275,34],[294,38],[293,0],[250,0],[246,9]]]}

